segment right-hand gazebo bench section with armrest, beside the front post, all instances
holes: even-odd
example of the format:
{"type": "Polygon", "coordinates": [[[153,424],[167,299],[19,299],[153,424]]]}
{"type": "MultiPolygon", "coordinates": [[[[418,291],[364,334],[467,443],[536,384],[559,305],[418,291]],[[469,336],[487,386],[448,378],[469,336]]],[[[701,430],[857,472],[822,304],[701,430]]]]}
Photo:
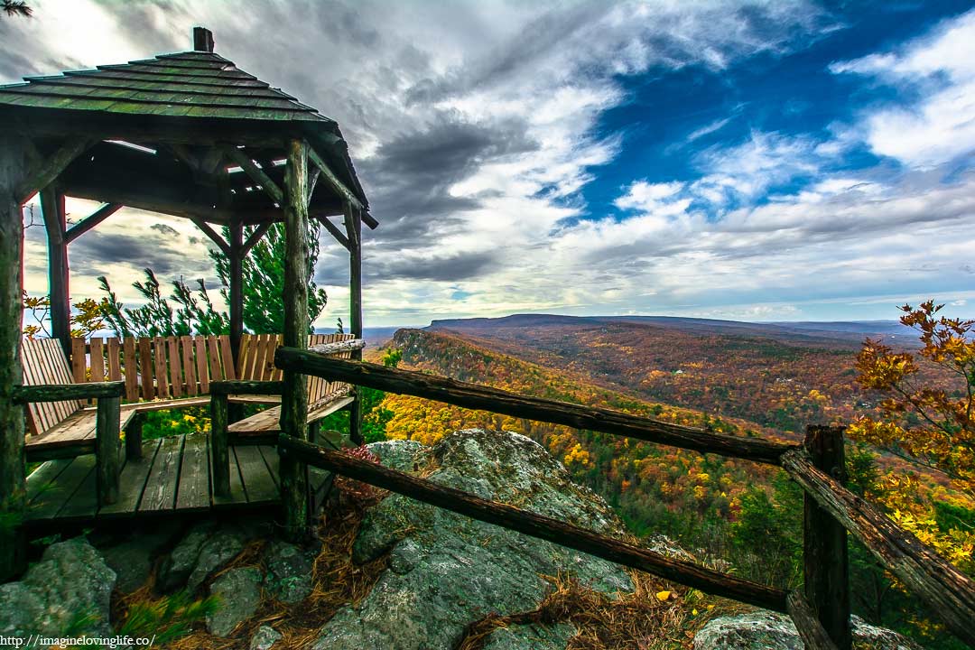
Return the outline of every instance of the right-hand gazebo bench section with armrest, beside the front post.
{"type": "MultiPolygon", "coordinates": [[[[214,466],[214,492],[226,494],[229,489],[229,446],[231,443],[264,444],[274,442],[281,432],[279,420],[281,406],[272,406],[249,418],[230,423],[227,416],[230,401],[235,395],[275,395],[283,393],[283,371],[274,367],[274,350],[278,342],[269,346],[266,359],[273,371],[265,379],[238,380],[211,383],[211,458],[214,466]]],[[[321,354],[348,359],[355,350],[361,350],[365,342],[352,334],[314,334],[309,338],[309,349],[321,354]]],[[[315,431],[321,420],[353,401],[352,386],[344,382],[326,381],[321,377],[308,377],[308,411],[306,422],[315,431]]]]}

